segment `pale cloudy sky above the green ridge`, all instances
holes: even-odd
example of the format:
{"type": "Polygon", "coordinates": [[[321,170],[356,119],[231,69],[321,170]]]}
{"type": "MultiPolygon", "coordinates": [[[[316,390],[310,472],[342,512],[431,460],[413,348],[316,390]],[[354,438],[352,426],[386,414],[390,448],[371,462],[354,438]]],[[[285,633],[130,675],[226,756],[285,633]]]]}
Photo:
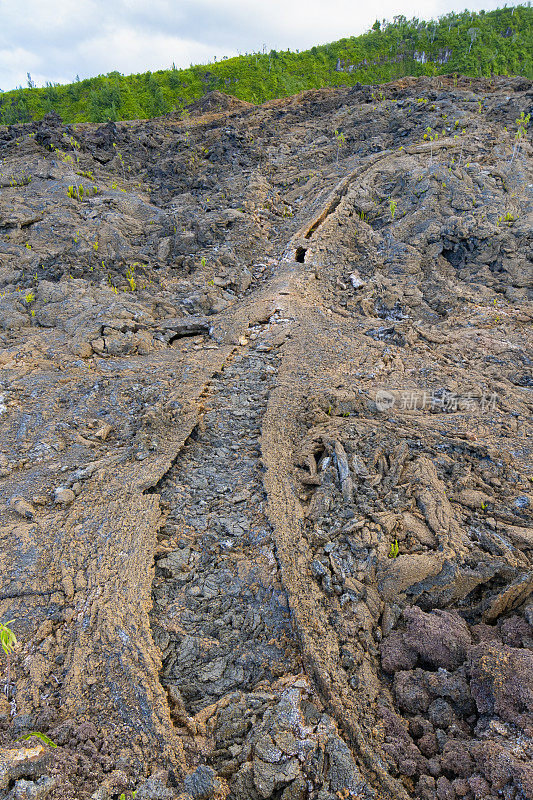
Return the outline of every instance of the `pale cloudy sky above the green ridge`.
{"type": "Polygon", "coordinates": [[[0,89],[305,50],[397,14],[490,11],[493,0],[0,0],[0,89]]]}

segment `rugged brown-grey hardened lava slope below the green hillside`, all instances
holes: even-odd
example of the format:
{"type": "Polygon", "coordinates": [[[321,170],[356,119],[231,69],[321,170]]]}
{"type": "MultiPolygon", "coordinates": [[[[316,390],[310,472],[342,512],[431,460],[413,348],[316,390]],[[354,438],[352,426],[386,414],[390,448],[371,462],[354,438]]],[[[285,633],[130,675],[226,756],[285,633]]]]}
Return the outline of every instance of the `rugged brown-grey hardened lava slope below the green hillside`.
{"type": "Polygon", "coordinates": [[[533,797],[532,108],[0,128],[0,797],[533,797]]]}

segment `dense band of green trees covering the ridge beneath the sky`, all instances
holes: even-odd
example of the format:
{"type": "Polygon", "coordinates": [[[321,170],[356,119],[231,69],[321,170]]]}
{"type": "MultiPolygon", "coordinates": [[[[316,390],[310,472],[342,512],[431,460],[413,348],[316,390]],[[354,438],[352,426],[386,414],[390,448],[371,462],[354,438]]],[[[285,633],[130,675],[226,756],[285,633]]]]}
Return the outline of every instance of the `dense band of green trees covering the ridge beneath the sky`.
{"type": "Polygon", "coordinates": [[[66,86],[19,87],[0,94],[0,122],[27,122],[51,111],[65,122],[145,119],[179,111],[213,90],[262,103],[304,89],[445,74],[454,75],[454,85],[458,74],[533,79],[531,6],[463,11],[429,22],[397,16],[376,21],[361,36],[301,53],[271,50],[188,69],[110,72],[66,86]]]}

